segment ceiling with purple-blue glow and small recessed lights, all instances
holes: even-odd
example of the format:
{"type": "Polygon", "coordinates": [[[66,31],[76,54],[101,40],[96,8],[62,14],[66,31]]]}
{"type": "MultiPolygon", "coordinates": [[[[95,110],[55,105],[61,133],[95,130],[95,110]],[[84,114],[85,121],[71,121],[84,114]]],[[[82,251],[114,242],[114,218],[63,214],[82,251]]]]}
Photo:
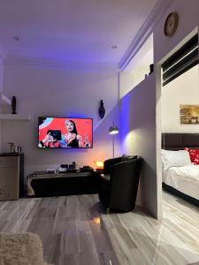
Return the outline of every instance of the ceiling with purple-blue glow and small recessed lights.
{"type": "Polygon", "coordinates": [[[11,56],[119,64],[156,3],[0,0],[0,43],[11,56]]]}

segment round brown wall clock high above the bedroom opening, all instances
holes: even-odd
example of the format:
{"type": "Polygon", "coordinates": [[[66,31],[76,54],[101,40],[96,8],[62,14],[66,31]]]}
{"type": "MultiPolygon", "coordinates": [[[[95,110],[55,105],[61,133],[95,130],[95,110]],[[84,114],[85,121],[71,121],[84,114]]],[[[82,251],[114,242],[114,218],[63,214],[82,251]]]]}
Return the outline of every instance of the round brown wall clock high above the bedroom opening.
{"type": "Polygon", "coordinates": [[[177,12],[172,12],[165,20],[165,36],[171,37],[179,24],[179,15],[177,12]]]}

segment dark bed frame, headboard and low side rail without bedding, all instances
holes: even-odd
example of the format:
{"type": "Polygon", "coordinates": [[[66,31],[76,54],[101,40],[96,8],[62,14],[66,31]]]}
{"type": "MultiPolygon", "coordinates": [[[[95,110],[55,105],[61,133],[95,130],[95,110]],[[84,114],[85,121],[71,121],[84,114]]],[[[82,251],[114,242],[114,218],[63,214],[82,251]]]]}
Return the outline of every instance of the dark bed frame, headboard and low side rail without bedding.
{"type": "MultiPolygon", "coordinates": [[[[184,148],[199,148],[199,133],[162,133],[162,148],[166,150],[183,150],[184,148]]],[[[163,183],[163,188],[180,198],[199,206],[199,200],[181,193],[172,186],[163,183]]]]}

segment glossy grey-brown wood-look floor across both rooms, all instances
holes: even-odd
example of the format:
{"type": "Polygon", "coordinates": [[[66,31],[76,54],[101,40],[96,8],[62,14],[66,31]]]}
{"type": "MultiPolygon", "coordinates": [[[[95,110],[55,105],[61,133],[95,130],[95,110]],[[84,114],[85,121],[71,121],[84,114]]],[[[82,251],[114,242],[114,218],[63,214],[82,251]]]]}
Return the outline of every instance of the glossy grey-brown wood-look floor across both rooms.
{"type": "Polygon", "coordinates": [[[31,231],[58,265],[199,264],[199,208],[164,193],[164,219],[104,215],[97,195],[0,202],[0,231],[31,231]]]}

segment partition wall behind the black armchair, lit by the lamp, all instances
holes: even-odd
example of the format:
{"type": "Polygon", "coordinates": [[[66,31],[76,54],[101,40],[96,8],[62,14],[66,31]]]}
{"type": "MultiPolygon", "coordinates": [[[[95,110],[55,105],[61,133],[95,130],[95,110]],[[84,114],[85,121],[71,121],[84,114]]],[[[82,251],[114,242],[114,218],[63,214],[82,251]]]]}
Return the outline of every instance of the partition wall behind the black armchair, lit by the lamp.
{"type": "MultiPolygon", "coordinates": [[[[122,87],[122,84],[120,84],[122,87]]],[[[122,152],[144,159],[139,201],[157,217],[156,86],[155,75],[134,87],[121,99],[120,137],[122,152]]]]}

